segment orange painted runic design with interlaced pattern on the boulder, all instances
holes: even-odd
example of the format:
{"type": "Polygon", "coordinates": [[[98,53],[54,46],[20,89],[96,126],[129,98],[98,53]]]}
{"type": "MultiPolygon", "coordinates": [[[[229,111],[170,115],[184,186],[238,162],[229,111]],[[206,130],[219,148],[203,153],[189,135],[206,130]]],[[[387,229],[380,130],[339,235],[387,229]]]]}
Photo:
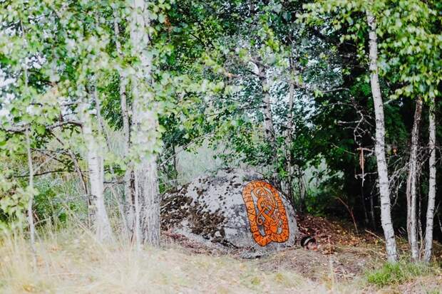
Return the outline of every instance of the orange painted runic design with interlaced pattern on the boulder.
{"type": "Polygon", "coordinates": [[[253,181],[242,190],[242,199],[256,243],[266,246],[272,241],[287,241],[289,222],[277,189],[267,182],[253,181]]]}

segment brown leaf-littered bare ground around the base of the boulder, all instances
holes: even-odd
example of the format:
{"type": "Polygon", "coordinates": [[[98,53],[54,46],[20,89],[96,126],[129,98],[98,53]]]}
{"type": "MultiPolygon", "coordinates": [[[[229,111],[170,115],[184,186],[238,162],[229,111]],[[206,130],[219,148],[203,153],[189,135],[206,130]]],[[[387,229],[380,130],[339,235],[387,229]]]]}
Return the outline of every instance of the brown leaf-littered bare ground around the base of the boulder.
{"type": "MultiPolygon", "coordinates": [[[[370,268],[374,261],[383,258],[384,246],[378,237],[370,233],[356,234],[346,224],[329,221],[322,217],[297,216],[302,235],[317,238],[318,251],[300,248],[299,243],[284,251],[254,256],[257,268],[262,271],[294,271],[311,280],[334,279],[351,280],[370,268]]],[[[165,232],[163,238],[168,243],[182,246],[189,253],[210,254],[214,256],[230,255],[242,259],[253,250],[214,248],[197,241],[192,241],[177,233],[165,232]]]]}

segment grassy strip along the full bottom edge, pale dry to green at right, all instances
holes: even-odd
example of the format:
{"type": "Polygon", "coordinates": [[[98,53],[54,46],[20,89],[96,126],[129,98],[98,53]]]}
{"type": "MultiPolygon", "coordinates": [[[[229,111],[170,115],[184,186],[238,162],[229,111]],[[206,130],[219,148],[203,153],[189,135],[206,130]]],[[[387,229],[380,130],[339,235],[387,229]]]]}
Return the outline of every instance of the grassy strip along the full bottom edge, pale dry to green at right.
{"type": "MultiPolygon", "coordinates": [[[[300,261],[300,249],[281,253],[279,258],[250,261],[192,254],[173,243],[140,252],[123,243],[102,246],[82,229],[58,233],[48,229],[41,235],[35,269],[24,238],[1,239],[0,293],[437,293],[432,291],[442,286],[437,271],[411,274],[399,283],[387,278],[393,285],[382,288],[369,284],[364,274],[339,280],[327,258],[307,278],[308,272],[306,276],[287,266],[290,258],[309,266],[310,259],[318,257],[306,253],[307,260],[300,261]]],[[[372,278],[380,278],[385,271],[372,274],[372,278]]]]}

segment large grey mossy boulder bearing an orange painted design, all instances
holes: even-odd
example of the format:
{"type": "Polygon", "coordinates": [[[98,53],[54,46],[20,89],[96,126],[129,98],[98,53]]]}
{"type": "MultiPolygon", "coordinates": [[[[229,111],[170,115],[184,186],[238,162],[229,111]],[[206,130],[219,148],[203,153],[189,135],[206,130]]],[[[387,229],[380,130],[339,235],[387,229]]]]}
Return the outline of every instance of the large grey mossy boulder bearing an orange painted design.
{"type": "Polygon", "coordinates": [[[199,177],[165,194],[161,206],[164,230],[210,245],[275,251],[299,235],[288,199],[251,170],[199,177]]]}

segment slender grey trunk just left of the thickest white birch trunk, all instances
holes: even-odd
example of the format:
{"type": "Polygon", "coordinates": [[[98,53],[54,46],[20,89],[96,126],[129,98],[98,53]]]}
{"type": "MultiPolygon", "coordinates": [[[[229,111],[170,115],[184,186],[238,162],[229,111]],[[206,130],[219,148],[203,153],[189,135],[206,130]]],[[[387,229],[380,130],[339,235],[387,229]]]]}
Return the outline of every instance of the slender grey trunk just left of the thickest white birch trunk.
{"type": "MultiPolygon", "coordinates": [[[[118,40],[120,36],[120,29],[118,28],[118,15],[116,14],[116,9],[114,10],[114,18],[113,18],[113,31],[115,34],[115,47],[117,49],[118,56],[122,57],[123,52],[121,51],[121,44],[118,40]]],[[[134,221],[135,221],[135,205],[134,205],[134,196],[132,189],[132,174],[133,167],[132,164],[128,162],[129,150],[130,150],[130,118],[128,112],[128,103],[127,103],[127,95],[126,95],[126,78],[119,73],[120,75],[120,107],[121,107],[121,115],[123,118],[123,135],[124,135],[124,157],[125,162],[127,164],[125,173],[124,173],[124,196],[125,196],[125,223],[128,226],[128,230],[133,233],[134,229],[134,221]]]]}

